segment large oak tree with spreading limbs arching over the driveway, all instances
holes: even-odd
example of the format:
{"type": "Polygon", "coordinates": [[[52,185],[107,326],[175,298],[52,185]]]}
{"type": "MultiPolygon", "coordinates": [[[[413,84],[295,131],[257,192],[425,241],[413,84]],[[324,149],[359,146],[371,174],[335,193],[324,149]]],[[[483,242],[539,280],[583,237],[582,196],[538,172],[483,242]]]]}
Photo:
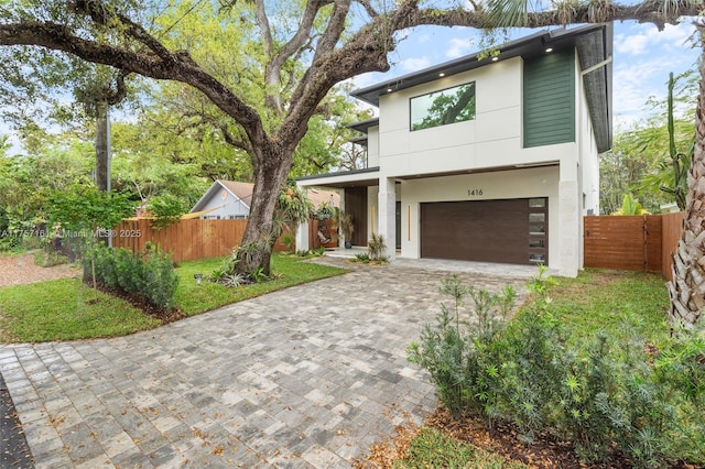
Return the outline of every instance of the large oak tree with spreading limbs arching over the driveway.
{"type": "MultiPolygon", "coordinates": [[[[195,7],[200,1],[194,0],[192,4],[195,7]]],[[[241,259],[238,268],[246,272],[258,268],[269,272],[273,242],[270,234],[278,194],[310,120],[322,111],[319,105],[337,84],[364,73],[390,68],[388,55],[397,46],[395,33],[420,25],[542,28],[615,20],[638,20],[662,28],[675,23],[680,15],[696,15],[701,11],[701,4],[693,0],[643,1],[630,6],[608,0],[566,0],[533,12],[529,11],[525,0],[469,0],[447,7],[417,0],[379,3],[370,0],[231,0],[221,4],[224,28],[238,23],[257,26],[259,46],[265,57],[260,84],[265,95],[264,110],[248,102],[237,85],[228,86],[218,79],[217,70],[196,62],[189,54],[189,44],[165,40],[170,29],[152,21],[165,4],[151,9],[129,0],[13,0],[0,7],[0,45],[40,46],[128,74],[180,81],[203,92],[228,116],[241,129],[256,178],[242,242],[259,248],[256,255],[248,250],[249,255],[241,259]],[[290,73],[292,61],[305,64],[303,73],[290,73]]],[[[234,77],[246,72],[228,70],[234,77]]],[[[702,137],[705,139],[705,129],[702,137]]],[[[702,145],[698,155],[699,164],[705,164],[702,145]]],[[[705,167],[698,170],[698,174],[705,176],[705,167]]],[[[705,187],[701,193],[705,197],[705,187]]]]}

